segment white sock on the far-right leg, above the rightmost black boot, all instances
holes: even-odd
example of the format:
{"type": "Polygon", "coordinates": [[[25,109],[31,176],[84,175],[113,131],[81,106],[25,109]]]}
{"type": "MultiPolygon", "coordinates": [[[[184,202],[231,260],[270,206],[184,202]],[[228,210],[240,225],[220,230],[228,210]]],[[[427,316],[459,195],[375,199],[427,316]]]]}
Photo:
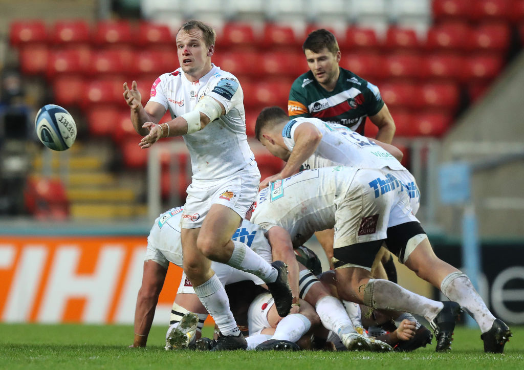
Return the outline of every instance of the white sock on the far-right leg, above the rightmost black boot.
{"type": "Polygon", "coordinates": [[[440,284],[440,290],[447,298],[459,303],[473,316],[481,332],[485,333],[491,329],[495,316],[489,312],[486,303],[465,274],[459,271],[447,275],[440,284]]]}

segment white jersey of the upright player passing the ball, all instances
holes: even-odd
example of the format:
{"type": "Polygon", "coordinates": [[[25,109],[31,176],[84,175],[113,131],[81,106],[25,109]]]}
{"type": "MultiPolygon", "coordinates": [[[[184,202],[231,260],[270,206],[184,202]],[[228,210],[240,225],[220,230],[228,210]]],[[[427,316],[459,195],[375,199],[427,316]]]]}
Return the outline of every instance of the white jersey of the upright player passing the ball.
{"type": "Polygon", "coordinates": [[[191,155],[193,178],[220,179],[246,167],[255,159],[246,136],[244,93],[238,79],[214,64],[196,82],[189,81],[181,68],[162,74],[151,86],[149,101],[162,104],[171,118],[194,110],[208,95],[222,103],[225,115],[202,130],[183,135],[191,155]]]}

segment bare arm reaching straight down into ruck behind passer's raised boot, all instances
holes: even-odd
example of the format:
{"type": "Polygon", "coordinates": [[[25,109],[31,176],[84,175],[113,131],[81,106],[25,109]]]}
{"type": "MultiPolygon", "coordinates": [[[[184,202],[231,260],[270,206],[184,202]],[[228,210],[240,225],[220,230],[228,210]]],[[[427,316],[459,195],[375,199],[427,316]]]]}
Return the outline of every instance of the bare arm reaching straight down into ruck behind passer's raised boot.
{"type": "Polygon", "coordinates": [[[280,226],[272,226],[266,232],[266,238],[271,245],[271,254],[273,256],[273,260],[281,260],[286,265],[288,265],[288,281],[289,287],[291,288],[291,293],[293,294],[294,302],[295,300],[298,300],[300,293],[298,288],[299,267],[297,258],[294,254],[291,237],[285,228],[280,226]]]}

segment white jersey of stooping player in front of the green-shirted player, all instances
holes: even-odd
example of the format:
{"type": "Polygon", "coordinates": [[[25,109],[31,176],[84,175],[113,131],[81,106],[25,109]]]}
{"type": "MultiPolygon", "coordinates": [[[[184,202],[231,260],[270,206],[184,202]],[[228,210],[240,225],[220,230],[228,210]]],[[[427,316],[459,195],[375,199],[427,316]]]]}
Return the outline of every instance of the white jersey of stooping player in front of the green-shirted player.
{"type": "Polygon", "coordinates": [[[406,170],[400,162],[388,151],[370,142],[351,129],[319,118],[299,117],[291,119],[282,129],[284,143],[289,150],[294,147],[294,131],[297,127],[309,122],[322,133],[322,141],[315,153],[308,158],[303,166],[306,169],[337,165],[380,169],[388,167],[391,170],[406,170]]]}

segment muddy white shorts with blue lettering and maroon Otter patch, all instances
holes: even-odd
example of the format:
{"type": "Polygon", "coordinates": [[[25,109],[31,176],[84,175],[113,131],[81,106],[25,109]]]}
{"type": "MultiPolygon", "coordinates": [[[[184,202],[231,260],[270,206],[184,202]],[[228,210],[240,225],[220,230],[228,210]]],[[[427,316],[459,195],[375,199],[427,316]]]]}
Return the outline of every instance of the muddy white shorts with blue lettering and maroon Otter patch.
{"type": "Polygon", "coordinates": [[[387,228],[417,221],[408,192],[389,169],[359,169],[335,211],[334,248],[383,240],[387,228]]]}

